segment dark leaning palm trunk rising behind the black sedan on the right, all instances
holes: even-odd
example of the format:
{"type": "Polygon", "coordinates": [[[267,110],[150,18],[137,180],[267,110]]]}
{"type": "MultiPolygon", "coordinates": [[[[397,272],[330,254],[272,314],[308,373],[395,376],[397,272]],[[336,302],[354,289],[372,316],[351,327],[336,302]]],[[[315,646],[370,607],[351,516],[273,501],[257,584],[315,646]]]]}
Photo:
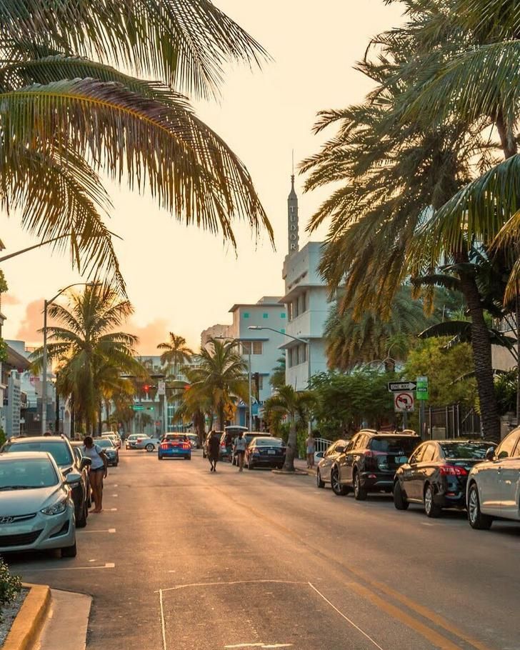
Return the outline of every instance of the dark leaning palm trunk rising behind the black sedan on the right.
{"type": "MultiPolygon", "coordinates": [[[[462,260],[457,260],[462,261],[462,260]]],[[[474,279],[460,274],[461,291],[471,316],[471,346],[475,364],[476,385],[479,391],[482,430],[486,440],[500,442],[499,406],[496,401],[493,363],[491,359],[491,339],[484,320],[479,289],[474,279]]]]}

